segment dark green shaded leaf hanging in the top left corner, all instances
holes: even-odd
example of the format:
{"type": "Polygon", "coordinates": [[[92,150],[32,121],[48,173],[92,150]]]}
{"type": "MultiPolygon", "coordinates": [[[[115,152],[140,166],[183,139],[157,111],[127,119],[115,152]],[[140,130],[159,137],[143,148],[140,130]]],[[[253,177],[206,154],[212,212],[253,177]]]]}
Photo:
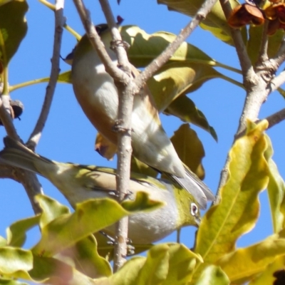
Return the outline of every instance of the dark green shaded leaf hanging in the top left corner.
{"type": "Polygon", "coordinates": [[[8,66],[26,36],[27,10],[28,4],[24,0],[9,1],[0,6],[0,61],[4,67],[8,66]]]}

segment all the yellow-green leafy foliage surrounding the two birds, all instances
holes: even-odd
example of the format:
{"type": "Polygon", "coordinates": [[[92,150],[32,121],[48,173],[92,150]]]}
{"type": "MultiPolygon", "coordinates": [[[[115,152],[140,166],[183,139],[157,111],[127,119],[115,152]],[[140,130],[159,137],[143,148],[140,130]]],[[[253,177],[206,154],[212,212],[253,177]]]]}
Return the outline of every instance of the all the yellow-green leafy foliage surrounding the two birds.
{"type": "MultiPolygon", "coordinates": [[[[202,3],[158,2],[190,16],[202,3]]],[[[231,2],[233,6],[238,5],[231,2]]],[[[41,78],[18,86],[9,86],[7,81],[9,61],[26,34],[26,10],[24,0],[0,3],[0,15],[13,15],[0,16],[1,82],[10,92],[48,81],[48,78],[41,78]],[[18,28],[14,28],[15,25],[18,28]]],[[[201,26],[224,43],[234,44],[219,4],[201,26]]],[[[147,66],[175,38],[167,32],[149,35],[138,26],[123,26],[120,31],[124,41],[130,44],[130,62],[138,68],[147,66]]],[[[256,61],[254,51],[259,44],[256,39],[260,38],[260,31],[255,26],[248,31],[242,29],[252,62],[256,61]]],[[[277,31],[269,39],[269,55],[276,53],[283,33],[277,31]]],[[[203,83],[213,78],[222,78],[244,88],[241,83],[218,72],[217,67],[241,73],[214,61],[199,48],[183,43],[147,83],[157,109],[185,122],[175,132],[172,142],[183,162],[198,177],[204,177],[204,149],[189,123],[206,130],[214,140],[217,140],[217,133],[187,93],[199,90],[203,83]]],[[[70,71],[61,73],[58,82],[71,83],[70,71]]],[[[6,238],[0,237],[0,284],[24,284],[17,279],[45,284],[272,284],[276,272],[285,266],[285,184],[272,160],[273,147],[265,133],[267,128],[266,120],[257,124],[248,121],[246,132],[235,140],[228,153],[227,181],[219,189],[219,201],[204,214],[193,249],[178,243],[147,245],[142,248],[149,249],[146,257],[131,257],[113,274],[110,267],[113,244],[100,231],[133,212],[159,207],[160,202],[140,195],[128,204],[108,198],[90,199],[77,204],[71,213],[68,207],[39,195],[36,199],[41,214],[14,222],[6,230],[6,238]],[[263,190],[268,192],[274,234],[257,244],[237,249],[237,239],[251,231],[259,219],[258,197],[263,190]],[[106,212],[108,215],[104,214],[106,212]],[[36,226],[41,229],[41,239],[31,249],[23,249],[26,232],[36,226]]],[[[116,147],[105,142],[100,134],[96,148],[104,149],[105,152],[100,153],[109,159],[116,151],[116,147]]],[[[157,175],[136,160],[132,167],[137,172],[157,175]]],[[[140,248],[135,248],[135,253],[138,252],[140,248]]]]}

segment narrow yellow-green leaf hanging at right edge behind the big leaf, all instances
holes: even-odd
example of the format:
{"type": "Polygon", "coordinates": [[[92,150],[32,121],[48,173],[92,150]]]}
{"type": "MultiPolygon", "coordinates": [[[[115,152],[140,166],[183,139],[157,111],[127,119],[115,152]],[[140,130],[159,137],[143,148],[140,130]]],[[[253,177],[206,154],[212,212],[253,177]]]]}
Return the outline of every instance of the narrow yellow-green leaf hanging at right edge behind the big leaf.
{"type": "Polygon", "coordinates": [[[264,153],[269,165],[269,183],[267,187],[271,217],[274,232],[280,232],[285,226],[285,183],[282,179],[275,162],[272,160],[273,149],[268,135],[266,135],[267,150],[264,153]]]}

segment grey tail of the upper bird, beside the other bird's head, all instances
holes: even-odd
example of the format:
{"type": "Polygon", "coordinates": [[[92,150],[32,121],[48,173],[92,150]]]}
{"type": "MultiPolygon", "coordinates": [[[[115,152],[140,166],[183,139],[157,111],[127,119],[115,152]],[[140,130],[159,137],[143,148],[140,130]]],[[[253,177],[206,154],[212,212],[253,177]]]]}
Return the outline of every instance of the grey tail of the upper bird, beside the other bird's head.
{"type": "Polygon", "coordinates": [[[215,197],[212,191],[187,166],[185,166],[185,177],[175,175],[171,175],[171,177],[195,197],[200,209],[206,209],[207,202],[214,201],[215,197]]]}

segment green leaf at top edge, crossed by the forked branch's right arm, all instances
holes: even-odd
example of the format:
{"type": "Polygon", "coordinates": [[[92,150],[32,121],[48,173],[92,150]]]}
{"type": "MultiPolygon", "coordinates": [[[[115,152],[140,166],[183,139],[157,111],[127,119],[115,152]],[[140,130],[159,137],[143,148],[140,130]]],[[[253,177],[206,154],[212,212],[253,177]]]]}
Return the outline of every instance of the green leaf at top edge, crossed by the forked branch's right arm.
{"type": "MultiPolygon", "coordinates": [[[[180,12],[187,16],[195,16],[198,9],[204,4],[202,0],[157,0],[158,4],[167,5],[168,9],[180,12]]],[[[238,1],[230,0],[232,9],[238,6],[238,1]]],[[[232,36],[229,25],[227,24],[226,17],[222,11],[222,6],[219,1],[214,4],[212,10],[207,15],[206,19],[200,24],[201,28],[210,31],[220,40],[232,44],[232,36]]],[[[245,28],[242,29],[242,33],[245,34],[245,28]]]]}

